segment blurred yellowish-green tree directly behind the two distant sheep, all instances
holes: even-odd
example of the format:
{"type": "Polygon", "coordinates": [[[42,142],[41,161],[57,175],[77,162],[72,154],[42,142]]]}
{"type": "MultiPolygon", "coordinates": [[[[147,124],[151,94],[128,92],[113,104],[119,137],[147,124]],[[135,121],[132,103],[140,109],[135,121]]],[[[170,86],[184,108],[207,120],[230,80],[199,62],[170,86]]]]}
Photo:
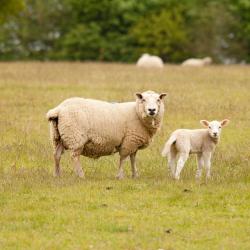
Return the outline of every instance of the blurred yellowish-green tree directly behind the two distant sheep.
{"type": "Polygon", "coordinates": [[[149,52],[169,62],[183,60],[188,34],[182,16],[182,10],[176,8],[142,18],[130,32],[137,56],[149,52]]]}

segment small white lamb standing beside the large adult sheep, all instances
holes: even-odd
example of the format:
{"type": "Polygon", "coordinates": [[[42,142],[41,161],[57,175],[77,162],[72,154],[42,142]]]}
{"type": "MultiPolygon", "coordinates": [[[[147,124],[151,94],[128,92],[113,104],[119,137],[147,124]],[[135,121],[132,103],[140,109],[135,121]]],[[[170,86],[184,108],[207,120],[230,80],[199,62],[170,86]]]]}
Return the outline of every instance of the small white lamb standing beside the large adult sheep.
{"type": "Polygon", "coordinates": [[[197,154],[198,170],[196,178],[200,178],[203,165],[206,168],[206,178],[210,177],[211,156],[220,139],[221,128],[229,123],[225,119],[221,122],[201,120],[206,129],[177,129],[166,142],[162,151],[163,157],[168,157],[168,164],[175,179],[180,173],[189,154],[197,154]],[[176,158],[178,155],[177,167],[176,158]]]}

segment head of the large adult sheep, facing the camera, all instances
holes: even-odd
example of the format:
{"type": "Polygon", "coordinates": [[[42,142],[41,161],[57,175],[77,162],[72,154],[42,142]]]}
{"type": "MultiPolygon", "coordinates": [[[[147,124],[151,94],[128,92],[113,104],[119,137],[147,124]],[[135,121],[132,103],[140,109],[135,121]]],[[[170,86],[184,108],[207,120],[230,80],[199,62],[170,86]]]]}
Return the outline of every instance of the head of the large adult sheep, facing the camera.
{"type": "Polygon", "coordinates": [[[145,117],[156,117],[159,113],[164,112],[163,99],[166,93],[158,94],[153,91],[146,91],[143,93],[136,93],[137,111],[145,117]]]}

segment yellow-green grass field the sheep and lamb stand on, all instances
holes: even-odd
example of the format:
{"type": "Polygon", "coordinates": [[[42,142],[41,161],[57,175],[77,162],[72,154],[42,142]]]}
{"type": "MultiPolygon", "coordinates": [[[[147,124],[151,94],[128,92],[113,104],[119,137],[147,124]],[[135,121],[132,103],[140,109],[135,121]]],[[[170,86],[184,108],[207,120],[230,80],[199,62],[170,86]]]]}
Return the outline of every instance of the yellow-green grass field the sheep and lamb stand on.
{"type": "Polygon", "coordinates": [[[0,63],[0,249],[250,249],[250,67],[200,69],[83,63],[0,63]],[[140,178],[117,181],[118,157],[63,155],[53,178],[45,113],[65,98],[128,101],[168,92],[164,126],[138,153],[140,178]],[[212,179],[195,182],[190,157],[174,182],[160,156],[176,128],[229,118],[212,179]]]}

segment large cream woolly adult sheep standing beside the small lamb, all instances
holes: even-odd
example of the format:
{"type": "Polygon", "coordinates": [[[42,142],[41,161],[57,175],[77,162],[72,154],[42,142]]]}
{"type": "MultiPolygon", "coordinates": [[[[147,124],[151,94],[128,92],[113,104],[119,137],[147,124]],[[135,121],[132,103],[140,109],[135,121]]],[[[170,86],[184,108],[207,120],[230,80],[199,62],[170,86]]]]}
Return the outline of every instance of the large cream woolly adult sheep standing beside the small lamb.
{"type": "Polygon", "coordinates": [[[138,177],[135,157],[146,148],[160,128],[165,93],[136,93],[135,102],[109,103],[74,97],[47,113],[54,146],[55,175],[60,175],[64,150],[71,151],[74,169],[84,177],[80,155],[99,158],[119,152],[118,179],[124,177],[123,163],[130,156],[132,177],[138,177]]]}

